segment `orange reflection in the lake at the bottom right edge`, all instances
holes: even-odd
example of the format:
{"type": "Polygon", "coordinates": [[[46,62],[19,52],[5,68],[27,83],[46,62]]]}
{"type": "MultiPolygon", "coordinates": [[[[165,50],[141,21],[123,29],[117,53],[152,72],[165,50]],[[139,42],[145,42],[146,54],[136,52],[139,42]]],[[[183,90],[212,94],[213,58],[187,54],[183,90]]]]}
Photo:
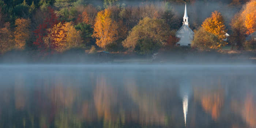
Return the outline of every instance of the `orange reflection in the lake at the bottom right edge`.
{"type": "Polygon", "coordinates": [[[256,103],[254,102],[251,94],[245,98],[244,109],[242,110],[242,116],[247,124],[251,127],[256,127],[256,103]]]}

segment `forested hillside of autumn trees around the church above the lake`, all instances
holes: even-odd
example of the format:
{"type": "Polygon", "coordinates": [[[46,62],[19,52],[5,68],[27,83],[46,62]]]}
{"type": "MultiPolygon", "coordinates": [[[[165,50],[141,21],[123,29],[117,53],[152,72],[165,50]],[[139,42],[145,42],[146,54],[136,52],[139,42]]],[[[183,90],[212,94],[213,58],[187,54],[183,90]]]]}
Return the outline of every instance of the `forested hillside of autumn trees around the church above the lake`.
{"type": "Polygon", "coordinates": [[[0,54],[172,50],[185,2],[192,48],[256,48],[256,0],[0,0],[0,54]]]}

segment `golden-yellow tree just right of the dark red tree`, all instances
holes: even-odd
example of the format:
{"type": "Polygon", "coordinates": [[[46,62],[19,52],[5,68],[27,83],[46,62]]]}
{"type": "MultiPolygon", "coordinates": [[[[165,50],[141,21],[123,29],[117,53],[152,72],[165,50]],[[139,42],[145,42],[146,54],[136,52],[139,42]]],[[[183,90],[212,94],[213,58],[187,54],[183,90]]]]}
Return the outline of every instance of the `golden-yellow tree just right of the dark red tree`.
{"type": "Polygon", "coordinates": [[[82,44],[81,32],[75,29],[72,22],[66,22],[63,30],[67,32],[67,49],[79,47],[82,44]]]}

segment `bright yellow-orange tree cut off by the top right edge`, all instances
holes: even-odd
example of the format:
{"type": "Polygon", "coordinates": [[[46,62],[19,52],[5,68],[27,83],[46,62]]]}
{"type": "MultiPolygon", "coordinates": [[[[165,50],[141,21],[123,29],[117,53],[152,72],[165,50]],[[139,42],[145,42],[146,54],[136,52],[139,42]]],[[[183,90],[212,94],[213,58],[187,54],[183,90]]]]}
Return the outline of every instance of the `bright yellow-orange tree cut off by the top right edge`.
{"type": "Polygon", "coordinates": [[[251,34],[256,31],[256,0],[251,0],[245,5],[244,11],[241,13],[244,20],[244,26],[247,31],[246,34],[251,34]]]}

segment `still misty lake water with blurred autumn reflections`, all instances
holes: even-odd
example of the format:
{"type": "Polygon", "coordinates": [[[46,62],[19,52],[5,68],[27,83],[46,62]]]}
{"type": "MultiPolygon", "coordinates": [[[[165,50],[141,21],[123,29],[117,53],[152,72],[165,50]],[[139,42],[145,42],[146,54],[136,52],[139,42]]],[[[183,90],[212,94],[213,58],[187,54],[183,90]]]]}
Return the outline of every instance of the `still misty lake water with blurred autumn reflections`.
{"type": "Polygon", "coordinates": [[[255,128],[255,65],[0,65],[0,128],[255,128]]]}

